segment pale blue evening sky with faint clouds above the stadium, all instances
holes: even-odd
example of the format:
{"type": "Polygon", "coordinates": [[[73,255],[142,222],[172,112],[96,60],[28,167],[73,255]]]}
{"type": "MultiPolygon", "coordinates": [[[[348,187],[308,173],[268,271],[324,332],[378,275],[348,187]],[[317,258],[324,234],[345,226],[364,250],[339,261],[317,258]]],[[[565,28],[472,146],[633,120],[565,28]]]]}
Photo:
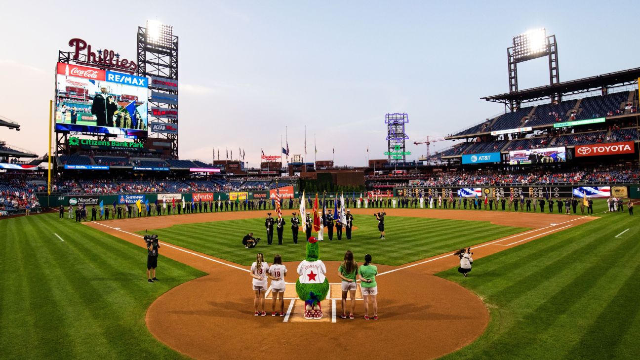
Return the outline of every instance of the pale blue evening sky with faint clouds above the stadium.
{"type": "MultiPolygon", "coordinates": [[[[480,99],[508,92],[506,48],[532,28],[556,34],[561,81],[640,66],[639,2],[617,1],[51,1],[3,4],[0,114],[22,131],[0,140],[47,150],[58,50],[79,37],[136,56],[147,19],[180,37],[180,158],[212,149],[292,154],[361,165],[384,158],[385,113],[406,112],[407,146],[504,110],[480,99]],[[515,8],[512,8],[515,6],[515,8]],[[511,14],[511,15],[509,15],[511,14]]],[[[546,58],[518,68],[520,88],[548,83],[546,58]]],[[[436,143],[432,150],[449,142],[436,143]]]]}

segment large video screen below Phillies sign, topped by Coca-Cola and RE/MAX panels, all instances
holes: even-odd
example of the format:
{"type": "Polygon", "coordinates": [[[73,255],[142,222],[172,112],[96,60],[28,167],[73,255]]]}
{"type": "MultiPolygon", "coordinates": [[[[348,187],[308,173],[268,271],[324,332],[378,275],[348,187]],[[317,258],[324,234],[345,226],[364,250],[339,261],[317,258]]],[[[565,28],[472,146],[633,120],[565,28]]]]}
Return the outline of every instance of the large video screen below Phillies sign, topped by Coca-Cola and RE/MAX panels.
{"type": "Polygon", "coordinates": [[[66,63],[56,74],[56,131],[147,137],[147,78],[66,63]]]}

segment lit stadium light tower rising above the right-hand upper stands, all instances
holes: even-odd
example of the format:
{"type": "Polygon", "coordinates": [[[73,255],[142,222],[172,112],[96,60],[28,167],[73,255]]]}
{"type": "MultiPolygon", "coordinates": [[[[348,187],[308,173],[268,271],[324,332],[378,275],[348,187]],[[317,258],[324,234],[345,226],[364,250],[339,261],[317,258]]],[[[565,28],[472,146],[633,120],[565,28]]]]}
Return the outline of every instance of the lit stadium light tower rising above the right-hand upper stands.
{"type": "MultiPolygon", "coordinates": [[[[509,93],[518,92],[518,63],[543,56],[548,56],[549,60],[549,83],[555,85],[560,82],[556,35],[547,36],[547,30],[541,28],[513,37],[513,46],[507,48],[509,93]]],[[[552,96],[554,102],[561,100],[560,94],[552,96]]],[[[520,101],[511,101],[509,107],[511,111],[520,108],[520,101]]]]}

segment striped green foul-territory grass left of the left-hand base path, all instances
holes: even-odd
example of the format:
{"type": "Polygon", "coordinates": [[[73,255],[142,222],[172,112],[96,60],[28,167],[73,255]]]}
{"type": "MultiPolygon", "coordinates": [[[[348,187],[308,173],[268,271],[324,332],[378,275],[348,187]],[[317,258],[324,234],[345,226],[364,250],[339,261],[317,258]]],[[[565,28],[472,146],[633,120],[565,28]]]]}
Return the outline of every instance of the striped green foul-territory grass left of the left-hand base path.
{"type": "Polygon", "coordinates": [[[159,295],[204,275],[58,214],[0,220],[1,359],[175,359],[147,330],[159,295]],[[64,241],[54,234],[58,234],[64,241]]]}

